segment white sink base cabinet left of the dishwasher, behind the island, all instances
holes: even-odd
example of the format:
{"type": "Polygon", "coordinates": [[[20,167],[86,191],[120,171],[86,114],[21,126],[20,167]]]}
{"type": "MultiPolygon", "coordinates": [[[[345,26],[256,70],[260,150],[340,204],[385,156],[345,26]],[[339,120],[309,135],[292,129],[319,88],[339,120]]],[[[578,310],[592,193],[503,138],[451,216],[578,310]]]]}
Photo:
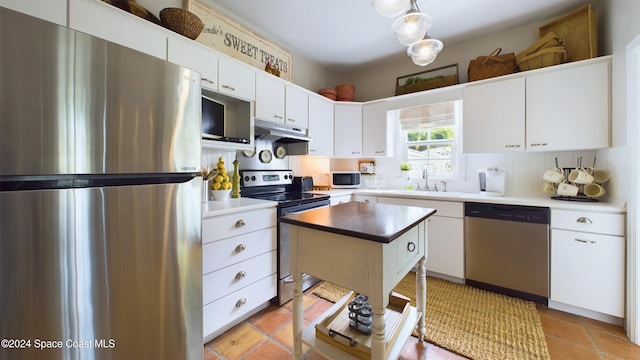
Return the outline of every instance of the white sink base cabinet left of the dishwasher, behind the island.
{"type": "Polygon", "coordinates": [[[463,203],[382,196],[378,203],[436,209],[428,220],[427,271],[464,279],[463,203]]]}

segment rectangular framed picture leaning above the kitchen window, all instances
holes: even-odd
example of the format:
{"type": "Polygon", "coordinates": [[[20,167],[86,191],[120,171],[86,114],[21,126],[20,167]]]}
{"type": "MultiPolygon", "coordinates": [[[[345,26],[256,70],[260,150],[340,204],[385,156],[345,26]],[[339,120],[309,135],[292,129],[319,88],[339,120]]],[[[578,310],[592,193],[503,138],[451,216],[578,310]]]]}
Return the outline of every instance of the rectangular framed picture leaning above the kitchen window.
{"type": "Polygon", "coordinates": [[[458,83],[458,64],[452,64],[397,78],[396,95],[431,90],[458,83]]]}

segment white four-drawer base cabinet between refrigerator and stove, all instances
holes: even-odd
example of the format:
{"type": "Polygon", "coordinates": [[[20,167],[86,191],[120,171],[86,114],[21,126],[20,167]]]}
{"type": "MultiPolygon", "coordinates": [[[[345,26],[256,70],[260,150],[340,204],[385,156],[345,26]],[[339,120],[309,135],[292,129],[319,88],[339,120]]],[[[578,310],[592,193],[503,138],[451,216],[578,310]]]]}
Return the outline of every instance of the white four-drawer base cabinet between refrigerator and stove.
{"type": "Polygon", "coordinates": [[[275,207],[203,220],[205,341],[220,335],[276,296],[276,221],[275,207]]]}

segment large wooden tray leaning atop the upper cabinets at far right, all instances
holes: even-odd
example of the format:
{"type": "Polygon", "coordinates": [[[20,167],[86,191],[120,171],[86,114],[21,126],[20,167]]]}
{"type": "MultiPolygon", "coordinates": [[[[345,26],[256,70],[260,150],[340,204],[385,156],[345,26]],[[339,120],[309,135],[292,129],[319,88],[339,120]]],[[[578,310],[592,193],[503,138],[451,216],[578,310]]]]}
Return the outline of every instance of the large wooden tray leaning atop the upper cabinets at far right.
{"type": "Polygon", "coordinates": [[[538,38],[555,33],[566,48],[566,61],[591,59],[598,56],[596,14],[585,5],[538,28],[538,38]]]}

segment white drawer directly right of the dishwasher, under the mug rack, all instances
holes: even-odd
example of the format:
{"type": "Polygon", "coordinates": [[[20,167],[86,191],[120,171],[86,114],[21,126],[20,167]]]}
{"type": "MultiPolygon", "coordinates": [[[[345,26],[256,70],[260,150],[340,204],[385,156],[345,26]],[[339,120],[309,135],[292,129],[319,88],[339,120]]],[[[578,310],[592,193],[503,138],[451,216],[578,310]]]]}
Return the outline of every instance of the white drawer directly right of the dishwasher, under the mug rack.
{"type": "Polygon", "coordinates": [[[624,214],[551,210],[551,227],[598,234],[624,235],[624,214]]]}

